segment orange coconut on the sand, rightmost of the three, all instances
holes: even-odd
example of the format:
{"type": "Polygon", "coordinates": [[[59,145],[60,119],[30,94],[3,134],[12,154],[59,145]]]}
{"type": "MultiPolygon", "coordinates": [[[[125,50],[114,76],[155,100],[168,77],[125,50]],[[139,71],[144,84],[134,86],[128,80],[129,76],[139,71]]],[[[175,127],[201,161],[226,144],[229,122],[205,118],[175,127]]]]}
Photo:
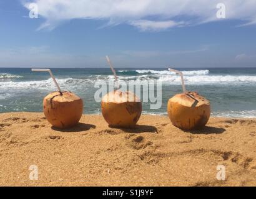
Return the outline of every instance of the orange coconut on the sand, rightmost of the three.
{"type": "Polygon", "coordinates": [[[196,92],[170,98],[167,104],[170,121],[184,130],[200,129],[210,118],[210,102],[196,92]]]}

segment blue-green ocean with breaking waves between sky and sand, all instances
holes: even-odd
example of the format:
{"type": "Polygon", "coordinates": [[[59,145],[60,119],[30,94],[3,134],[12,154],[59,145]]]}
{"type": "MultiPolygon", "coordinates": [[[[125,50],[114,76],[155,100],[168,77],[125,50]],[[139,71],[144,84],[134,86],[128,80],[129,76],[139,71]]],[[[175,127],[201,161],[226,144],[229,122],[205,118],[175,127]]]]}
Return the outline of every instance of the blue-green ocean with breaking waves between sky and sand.
{"type": "MultiPolygon", "coordinates": [[[[212,116],[256,118],[256,68],[175,68],[184,72],[186,88],[209,99],[212,116]]],[[[97,80],[113,79],[110,68],[51,68],[62,90],[84,100],[85,114],[101,113],[94,87],[97,80]]],[[[167,114],[167,101],[182,93],[180,76],[167,68],[116,68],[119,80],[158,80],[162,83],[162,106],[150,109],[142,103],[144,114],[167,114]]],[[[31,68],[0,68],[0,113],[42,111],[42,99],[56,91],[49,73],[31,68]]]]}

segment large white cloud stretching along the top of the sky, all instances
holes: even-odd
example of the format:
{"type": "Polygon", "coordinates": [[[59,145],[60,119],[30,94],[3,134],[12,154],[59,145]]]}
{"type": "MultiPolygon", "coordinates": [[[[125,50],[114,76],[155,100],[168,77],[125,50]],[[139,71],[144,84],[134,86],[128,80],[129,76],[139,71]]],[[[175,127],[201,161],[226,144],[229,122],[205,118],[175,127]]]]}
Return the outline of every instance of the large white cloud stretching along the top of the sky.
{"type": "MultiPolygon", "coordinates": [[[[52,29],[69,19],[104,19],[109,24],[130,24],[140,30],[164,30],[180,25],[218,21],[217,4],[226,7],[227,19],[256,24],[255,0],[21,0],[27,9],[37,3],[39,16],[52,29]],[[154,19],[154,20],[152,20],[154,19]]],[[[242,23],[241,23],[242,24],[242,23]]]]}

